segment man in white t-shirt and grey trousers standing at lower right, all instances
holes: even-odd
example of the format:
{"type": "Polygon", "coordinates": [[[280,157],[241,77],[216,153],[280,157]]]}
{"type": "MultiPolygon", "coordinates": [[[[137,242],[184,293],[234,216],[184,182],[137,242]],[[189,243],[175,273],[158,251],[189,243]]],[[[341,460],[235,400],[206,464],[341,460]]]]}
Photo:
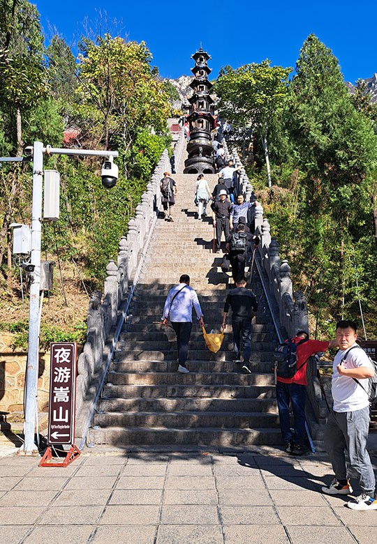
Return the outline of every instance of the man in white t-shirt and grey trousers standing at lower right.
{"type": "Polygon", "coordinates": [[[353,510],[377,510],[376,478],[367,451],[369,400],[364,390],[368,378],[374,375],[374,367],[356,340],[355,322],[343,320],[337,323],[339,352],[334,358],[331,387],[334,405],[323,437],[335,478],[322,491],[330,495],[353,492],[347,474],[347,450],[349,474],[357,476],[362,489],[362,494],[348,501],[347,506],[353,510]]]}

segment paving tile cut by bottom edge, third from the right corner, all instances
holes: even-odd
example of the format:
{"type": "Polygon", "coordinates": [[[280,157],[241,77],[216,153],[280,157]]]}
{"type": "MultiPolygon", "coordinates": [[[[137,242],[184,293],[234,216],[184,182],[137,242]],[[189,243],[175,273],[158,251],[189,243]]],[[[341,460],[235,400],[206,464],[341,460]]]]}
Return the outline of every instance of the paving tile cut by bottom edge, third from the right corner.
{"type": "Polygon", "coordinates": [[[223,531],[225,544],[290,544],[281,525],[224,525],[223,531]]]}

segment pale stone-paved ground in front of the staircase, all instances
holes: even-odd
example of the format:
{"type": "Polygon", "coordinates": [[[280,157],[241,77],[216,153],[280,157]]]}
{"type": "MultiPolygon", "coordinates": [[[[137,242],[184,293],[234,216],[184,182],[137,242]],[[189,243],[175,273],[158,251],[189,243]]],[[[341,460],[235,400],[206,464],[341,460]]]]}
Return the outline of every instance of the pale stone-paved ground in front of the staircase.
{"type": "Polygon", "coordinates": [[[321,494],[332,480],[323,454],[97,446],[65,469],[9,446],[0,455],[0,544],[369,544],[376,535],[377,511],[321,494]]]}

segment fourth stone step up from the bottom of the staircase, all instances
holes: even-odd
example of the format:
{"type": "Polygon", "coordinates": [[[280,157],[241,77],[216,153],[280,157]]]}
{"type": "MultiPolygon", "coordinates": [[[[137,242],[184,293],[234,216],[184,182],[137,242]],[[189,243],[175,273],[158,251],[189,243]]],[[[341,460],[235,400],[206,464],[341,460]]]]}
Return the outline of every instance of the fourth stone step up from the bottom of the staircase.
{"type": "Polygon", "coordinates": [[[105,384],[103,400],[113,398],[205,398],[205,399],[253,399],[275,398],[276,387],[272,384],[251,385],[179,385],[179,384],[105,384]]]}

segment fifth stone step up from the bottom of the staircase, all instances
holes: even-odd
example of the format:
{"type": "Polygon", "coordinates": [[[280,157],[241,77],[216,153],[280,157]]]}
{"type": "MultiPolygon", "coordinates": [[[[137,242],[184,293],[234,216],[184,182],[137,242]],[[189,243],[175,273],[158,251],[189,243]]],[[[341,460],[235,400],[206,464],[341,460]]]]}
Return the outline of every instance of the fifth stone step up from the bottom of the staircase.
{"type": "Polygon", "coordinates": [[[273,374],[236,374],[235,372],[112,372],[108,383],[113,385],[272,385],[273,374]]]}

